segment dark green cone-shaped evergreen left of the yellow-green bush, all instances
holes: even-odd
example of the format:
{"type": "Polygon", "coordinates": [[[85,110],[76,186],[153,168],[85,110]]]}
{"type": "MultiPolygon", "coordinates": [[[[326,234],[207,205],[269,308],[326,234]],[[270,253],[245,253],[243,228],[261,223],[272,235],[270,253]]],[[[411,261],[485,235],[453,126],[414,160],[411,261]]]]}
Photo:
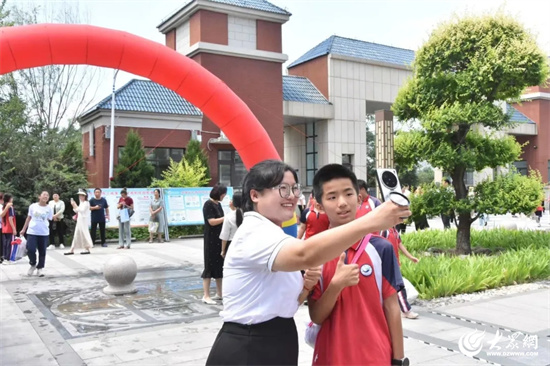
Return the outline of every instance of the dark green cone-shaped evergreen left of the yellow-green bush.
{"type": "Polygon", "coordinates": [[[145,158],[143,141],[134,130],[126,135],[126,146],[115,166],[111,187],[149,187],[155,168],[145,158]]]}

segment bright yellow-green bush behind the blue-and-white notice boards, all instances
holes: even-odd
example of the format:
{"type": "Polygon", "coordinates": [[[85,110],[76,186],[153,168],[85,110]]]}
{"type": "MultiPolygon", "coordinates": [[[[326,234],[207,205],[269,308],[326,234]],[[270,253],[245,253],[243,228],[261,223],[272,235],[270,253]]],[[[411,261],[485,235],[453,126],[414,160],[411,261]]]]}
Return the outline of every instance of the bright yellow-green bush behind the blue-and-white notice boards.
{"type": "Polygon", "coordinates": [[[179,163],[170,159],[170,166],[162,172],[162,179],[153,179],[151,188],[204,187],[210,181],[206,167],[195,159],[192,163],[182,159],[179,163]]]}

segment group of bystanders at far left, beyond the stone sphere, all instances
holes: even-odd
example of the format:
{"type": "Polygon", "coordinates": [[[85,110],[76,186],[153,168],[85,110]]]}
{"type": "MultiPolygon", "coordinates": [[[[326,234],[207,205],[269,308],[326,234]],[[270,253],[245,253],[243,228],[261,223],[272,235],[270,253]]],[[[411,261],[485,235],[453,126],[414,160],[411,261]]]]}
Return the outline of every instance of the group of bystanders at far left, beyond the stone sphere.
{"type": "MultiPolygon", "coordinates": [[[[103,247],[107,247],[105,225],[110,219],[109,205],[107,200],[102,197],[100,188],[94,189],[94,197],[88,201],[88,193],[85,189],[79,189],[77,194],[78,202],[72,197],[70,204],[75,215],[73,219],[76,221],[73,238],[70,249],[64,255],[73,255],[75,251],[80,251],[80,254],[90,254],[91,249],[96,241],[97,228],[99,226],[100,240],[103,247]],[[91,223],[91,233],[88,225],[91,223]]],[[[121,214],[117,216],[119,221],[119,245],[118,249],[130,249],[131,246],[131,230],[130,217],[134,212],[134,202],[128,196],[126,188],[120,192],[120,199],[117,204],[117,209],[121,214]],[[122,211],[126,214],[126,219],[121,217],[122,211]]],[[[53,193],[52,200],[49,201],[50,195],[47,191],[43,191],[38,196],[38,202],[29,206],[28,215],[23,225],[23,228],[18,233],[16,225],[16,213],[13,205],[13,196],[6,193],[0,193],[0,247],[1,256],[0,263],[9,263],[11,261],[12,242],[16,236],[26,236],[26,250],[29,258],[30,268],[27,272],[32,276],[36,271],[39,277],[43,277],[43,269],[46,262],[46,250],[56,248],[56,238],[59,248],[65,248],[65,234],[67,225],[65,224],[66,207],[65,202],[60,199],[59,193],[53,193]],[[38,257],[37,257],[38,252],[38,257]]],[[[160,190],[154,190],[154,197],[151,200],[150,223],[155,223],[155,230],[150,232],[150,240],[154,236],[159,242],[162,242],[162,233],[164,232],[164,214],[162,210],[164,205],[160,198],[160,190]]]]}

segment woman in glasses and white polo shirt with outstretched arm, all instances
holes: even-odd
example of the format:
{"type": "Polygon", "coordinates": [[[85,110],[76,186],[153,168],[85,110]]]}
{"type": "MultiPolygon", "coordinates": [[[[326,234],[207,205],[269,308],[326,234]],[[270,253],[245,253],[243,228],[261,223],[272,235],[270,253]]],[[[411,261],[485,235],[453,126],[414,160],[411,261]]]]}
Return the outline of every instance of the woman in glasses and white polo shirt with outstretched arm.
{"type": "MultiPolygon", "coordinates": [[[[296,365],[298,333],[294,314],[311,291],[308,271],[336,258],[368,233],[392,227],[410,215],[408,207],[386,202],[349,224],[307,240],[286,235],[281,225],[294,214],[301,187],[294,169],[266,160],[243,182],[244,220],[224,265],[224,324],[207,365],[296,365]]],[[[313,284],[312,284],[313,283],[313,284]]]]}

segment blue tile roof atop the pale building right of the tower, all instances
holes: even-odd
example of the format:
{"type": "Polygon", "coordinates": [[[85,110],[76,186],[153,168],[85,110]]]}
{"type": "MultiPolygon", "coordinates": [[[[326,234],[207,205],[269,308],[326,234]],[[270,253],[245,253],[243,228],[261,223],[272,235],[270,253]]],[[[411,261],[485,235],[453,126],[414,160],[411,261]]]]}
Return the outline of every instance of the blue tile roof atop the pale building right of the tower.
{"type": "Polygon", "coordinates": [[[335,54],[379,61],[396,65],[409,66],[414,60],[414,51],[404,48],[386,46],[378,43],[359,41],[357,39],[331,36],[307,51],[288,67],[297,66],[314,58],[335,54]]]}

